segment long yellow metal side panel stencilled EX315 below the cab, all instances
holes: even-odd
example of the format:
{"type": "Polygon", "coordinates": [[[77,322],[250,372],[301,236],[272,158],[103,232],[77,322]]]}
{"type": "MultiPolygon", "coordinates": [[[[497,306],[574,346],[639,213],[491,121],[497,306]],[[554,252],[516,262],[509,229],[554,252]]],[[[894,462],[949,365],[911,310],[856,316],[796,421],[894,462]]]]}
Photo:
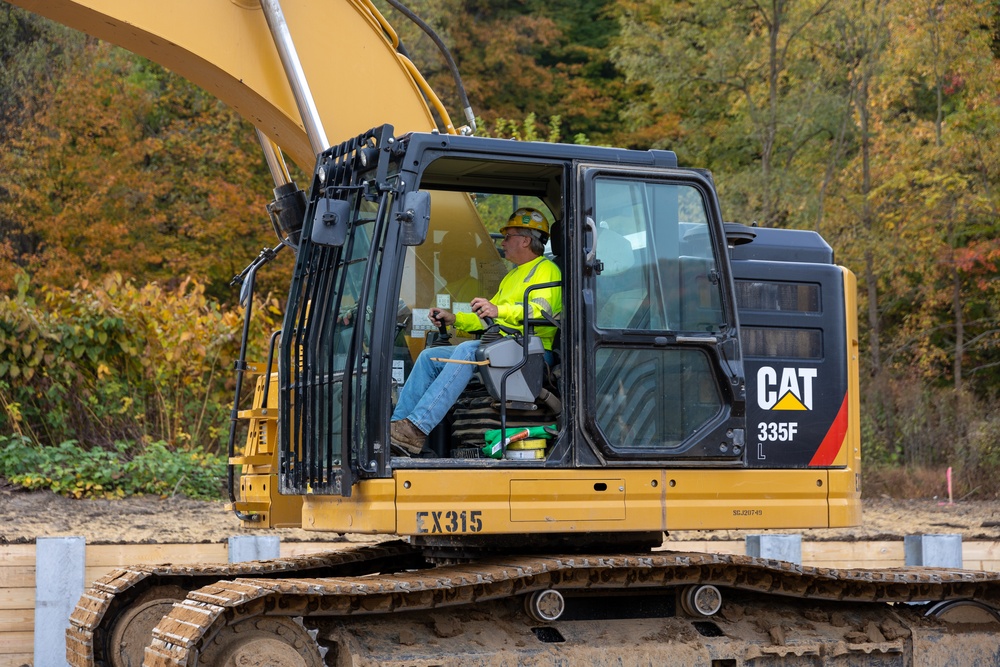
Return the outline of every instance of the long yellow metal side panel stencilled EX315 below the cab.
{"type": "Polygon", "coordinates": [[[397,470],[356,484],[350,498],[307,496],[302,521],[399,535],[827,528],[860,522],[854,479],[851,470],[397,470]]]}

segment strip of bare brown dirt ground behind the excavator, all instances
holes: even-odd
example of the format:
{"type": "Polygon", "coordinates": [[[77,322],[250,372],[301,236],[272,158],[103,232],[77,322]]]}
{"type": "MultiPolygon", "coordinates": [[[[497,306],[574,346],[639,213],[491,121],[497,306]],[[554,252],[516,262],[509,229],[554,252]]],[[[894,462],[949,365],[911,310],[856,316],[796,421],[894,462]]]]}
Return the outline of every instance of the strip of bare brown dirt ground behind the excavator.
{"type": "MultiPolygon", "coordinates": [[[[213,543],[245,532],[222,502],[151,496],[75,500],[50,492],[0,485],[0,544],[70,535],[83,536],[88,544],[213,543]]],[[[901,540],[904,535],[928,533],[959,533],[963,540],[1000,540],[1000,502],[966,501],[948,505],[939,500],[873,498],[864,501],[861,526],[775,532],[801,532],[805,540],[901,540]]],[[[334,534],[297,529],[274,533],[282,541],[337,539],[334,534]]],[[[736,530],[679,531],[672,537],[734,540],[745,535],[746,531],[736,530]]],[[[359,536],[349,539],[354,541],[359,536]]]]}

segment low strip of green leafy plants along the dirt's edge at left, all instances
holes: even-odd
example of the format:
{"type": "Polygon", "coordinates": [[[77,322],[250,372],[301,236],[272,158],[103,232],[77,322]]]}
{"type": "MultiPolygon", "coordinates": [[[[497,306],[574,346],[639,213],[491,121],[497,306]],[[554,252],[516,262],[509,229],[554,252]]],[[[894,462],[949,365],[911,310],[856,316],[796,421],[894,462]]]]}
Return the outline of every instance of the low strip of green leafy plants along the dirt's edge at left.
{"type": "Polygon", "coordinates": [[[214,500],[222,497],[226,460],[200,448],[171,450],[162,441],[136,450],[116,442],[86,449],[73,440],[39,447],[28,438],[0,436],[0,475],[26,489],[76,498],[139,494],[214,500]]]}

